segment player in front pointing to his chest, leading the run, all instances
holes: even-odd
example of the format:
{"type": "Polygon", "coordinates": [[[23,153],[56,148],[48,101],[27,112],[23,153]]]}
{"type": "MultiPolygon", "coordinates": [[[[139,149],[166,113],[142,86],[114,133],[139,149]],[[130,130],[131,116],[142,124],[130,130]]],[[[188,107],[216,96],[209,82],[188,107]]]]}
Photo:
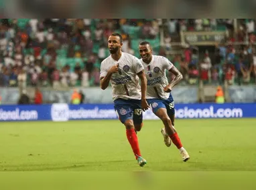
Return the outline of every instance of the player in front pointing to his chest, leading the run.
{"type": "Polygon", "coordinates": [[[147,79],[139,59],[122,52],[122,45],[122,36],[119,33],[109,36],[108,47],[111,55],[101,63],[101,89],[107,89],[111,83],[115,111],[125,125],[127,139],[135,158],[143,167],[147,161],[141,157],[135,128],[141,129],[142,111],[149,109],[145,99],[147,79]]]}

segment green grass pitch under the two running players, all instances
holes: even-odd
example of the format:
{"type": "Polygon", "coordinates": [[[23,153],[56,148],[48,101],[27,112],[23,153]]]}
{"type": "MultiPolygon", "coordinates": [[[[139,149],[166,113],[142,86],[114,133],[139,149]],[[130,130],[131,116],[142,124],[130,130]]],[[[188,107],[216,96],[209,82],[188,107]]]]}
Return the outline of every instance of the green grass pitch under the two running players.
{"type": "Polygon", "coordinates": [[[138,133],[133,157],[118,120],[0,123],[0,171],[256,171],[256,119],[176,119],[190,160],[164,145],[162,121],[138,133]]]}

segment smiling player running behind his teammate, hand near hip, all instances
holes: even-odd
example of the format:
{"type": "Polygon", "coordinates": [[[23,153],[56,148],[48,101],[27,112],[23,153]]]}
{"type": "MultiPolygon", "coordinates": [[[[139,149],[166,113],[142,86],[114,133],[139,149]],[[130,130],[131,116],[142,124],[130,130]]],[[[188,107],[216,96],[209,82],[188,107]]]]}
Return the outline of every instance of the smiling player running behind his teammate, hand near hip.
{"type": "Polygon", "coordinates": [[[164,128],[161,130],[164,142],[167,147],[170,147],[173,142],[180,150],[183,161],[188,161],[190,156],[182,146],[174,128],[174,99],[170,93],[172,87],[182,80],[182,74],[166,57],[152,55],[152,47],[147,41],[139,43],[139,54],[147,77],[147,103],[153,113],[164,123],[164,128]],[[166,77],[166,70],[176,76],[170,83],[166,77]]]}

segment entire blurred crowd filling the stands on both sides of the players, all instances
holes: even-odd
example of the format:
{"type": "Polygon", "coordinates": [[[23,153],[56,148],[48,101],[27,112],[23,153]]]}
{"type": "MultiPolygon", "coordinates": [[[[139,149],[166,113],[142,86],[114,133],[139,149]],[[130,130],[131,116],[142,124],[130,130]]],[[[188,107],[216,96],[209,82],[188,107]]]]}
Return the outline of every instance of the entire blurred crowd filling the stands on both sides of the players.
{"type": "MultiPolygon", "coordinates": [[[[233,19],[1,19],[1,87],[98,86],[101,61],[109,56],[107,37],[123,35],[123,51],[137,57],[138,42],[153,44],[155,54],[167,56],[184,75],[185,84],[255,83],[255,20],[243,19],[234,35],[233,19]],[[160,47],[160,28],[164,46],[160,47]],[[169,55],[172,36],[180,31],[227,30],[229,39],[216,44],[214,60],[203,59],[186,44],[169,55]],[[247,45],[233,45],[234,41],[247,45]]],[[[172,76],[170,76],[172,77],[172,76]]]]}

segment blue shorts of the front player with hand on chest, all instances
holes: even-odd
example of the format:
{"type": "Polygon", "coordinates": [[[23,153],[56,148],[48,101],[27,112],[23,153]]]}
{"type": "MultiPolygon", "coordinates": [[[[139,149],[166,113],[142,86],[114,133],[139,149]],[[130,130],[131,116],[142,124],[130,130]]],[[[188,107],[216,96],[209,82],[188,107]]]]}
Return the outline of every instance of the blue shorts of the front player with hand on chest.
{"type": "Polygon", "coordinates": [[[138,99],[116,99],[114,108],[122,123],[132,119],[134,124],[141,124],[143,120],[141,100],[138,99]]]}

